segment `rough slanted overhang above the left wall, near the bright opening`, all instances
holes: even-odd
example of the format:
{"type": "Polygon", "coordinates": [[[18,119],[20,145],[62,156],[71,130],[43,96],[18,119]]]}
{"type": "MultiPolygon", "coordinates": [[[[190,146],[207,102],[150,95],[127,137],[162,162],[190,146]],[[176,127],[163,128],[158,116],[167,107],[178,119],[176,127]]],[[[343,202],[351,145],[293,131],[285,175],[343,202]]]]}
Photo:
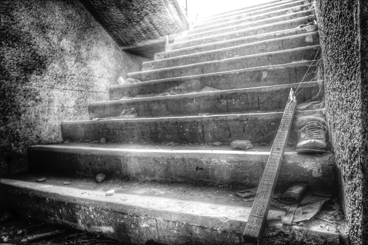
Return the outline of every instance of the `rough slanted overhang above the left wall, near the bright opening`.
{"type": "Polygon", "coordinates": [[[123,47],[146,45],[188,29],[176,0],[81,0],[123,47]]]}

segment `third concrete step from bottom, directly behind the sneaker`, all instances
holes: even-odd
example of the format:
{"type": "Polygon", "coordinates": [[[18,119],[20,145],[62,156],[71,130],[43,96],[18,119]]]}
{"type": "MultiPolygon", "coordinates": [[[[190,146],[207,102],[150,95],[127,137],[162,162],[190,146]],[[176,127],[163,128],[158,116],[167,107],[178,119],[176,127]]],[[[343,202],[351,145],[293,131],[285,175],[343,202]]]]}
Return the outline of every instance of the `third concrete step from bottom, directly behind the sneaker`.
{"type": "MultiPolygon", "coordinates": [[[[322,111],[300,111],[311,116],[322,111]]],[[[253,143],[272,143],[275,139],[282,110],[251,111],[248,113],[214,114],[206,116],[137,117],[91,121],[63,121],[61,135],[64,140],[82,139],[108,142],[232,142],[247,139],[253,143]]],[[[294,124],[297,120],[294,120],[294,124]]],[[[289,142],[296,145],[297,128],[293,127],[289,142]]]]}

